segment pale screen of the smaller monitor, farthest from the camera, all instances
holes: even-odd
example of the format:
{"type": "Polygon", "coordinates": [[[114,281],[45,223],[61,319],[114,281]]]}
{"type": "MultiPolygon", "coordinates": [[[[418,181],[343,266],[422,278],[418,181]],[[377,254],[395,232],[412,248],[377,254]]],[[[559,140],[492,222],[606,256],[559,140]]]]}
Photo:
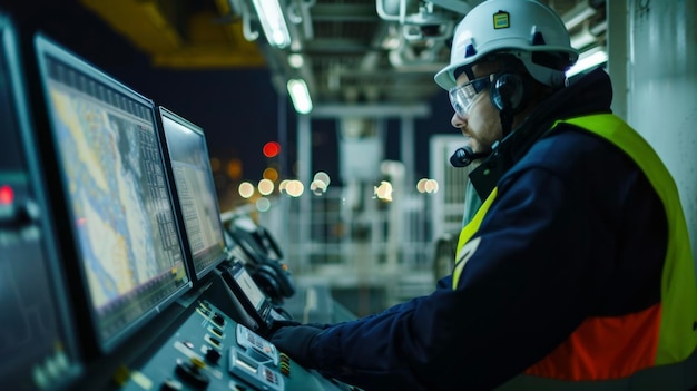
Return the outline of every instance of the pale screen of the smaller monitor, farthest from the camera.
{"type": "Polygon", "coordinates": [[[206,137],[170,110],[159,107],[159,114],[194,273],[202,277],[227,257],[206,137]]]}

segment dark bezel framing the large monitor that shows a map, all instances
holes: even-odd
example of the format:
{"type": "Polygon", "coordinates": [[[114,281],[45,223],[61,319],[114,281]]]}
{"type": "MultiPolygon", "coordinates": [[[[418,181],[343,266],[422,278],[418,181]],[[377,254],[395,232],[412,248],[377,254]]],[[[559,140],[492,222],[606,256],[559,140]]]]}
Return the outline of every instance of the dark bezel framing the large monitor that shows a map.
{"type": "MultiPolygon", "coordinates": [[[[155,139],[158,143],[159,155],[161,158],[163,173],[166,172],[167,162],[163,154],[163,145],[159,140],[158,136],[158,123],[156,120],[156,109],[155,104],[151,99],[143,96],[130,87],[126,86],[124,82],[117,80],[111,77],[104,70],[99,69],[97,66],[92,65],[85,58],[73,53],[67,47],[61,46],[57,41],[52,40],[48,36],[45,36],[41,32],[38,32],[33,38],[33,55],[36,56],[36,66],[37,66],[37,82],[38,88],[41,91],[41,104],[42,111],[45,114],[43,121],[43,144],[42,150],[50,155],[50,163],[45,165],[45,168],[50,173],[47,173],[47,176],[52,178],[51,180],[51,189],[52,190],[52,201],[55,205],[55,212],[59,213],[63,217],[63,222],[72,222],[73,211],[70,204],[70,193],[67,188],[67,178],[65,175],[65,167],[62,166],[61,155],[58,150],[58,140],[56,139],[56,131],[53,129],[53,124],[51,121],[52,108],[50,101],[50,90],[48,86],[49,77],[48,77],[48,63],[46,56],[51,56],[55,59],[69,65],[75,70],[82,72],[84,75],[91,77],[96,80],[102,82],[106,87],[111,90],[121,94],[129,99],[132,99],[135,102],[143,105],[147,108],[151,118],[153,131],[155,135],[155,139]]],[[[164,175],[165,180],[169,180],[167,175],[164,175]]],[[[175,216],[175,198],[169,190],[171,188],[170,184],[167,183],[165,186],[168,190],[168,199],[171,211],[171,218],[175,223],[175,227],[177,231],[177,238],[179,241],[179,251],[181,252],[181,258],[184,265],[186,265],[186,255],[184,253],[184,248],[181,246],[183,237],[180,234],[180,227],[177,225],[177,219],[175,216]]],[[[161,313],[165,309],[169,307],[171,304],[176,302],[181,295],[186,292],[190,291],[193,287],[192,276],[188,274],[188,270],[185,267],[184,271],[187,273],[187,281],[178,286],[176,290],[173,290],[167,297],[163,299],[157,305],[154,305],[146,311],[144,311],[137,319],[132,320],[129,324],[125,325],[120,331],[112,333],[108,338],[104,338],[100,335],[99,330],[99,315],[97,314],[96,307],[94,305],[90,287],[88,283],[88,278],[86,275],[86,271],[82,264],[82,255],[80,251],[80,243],[77,233],[73,229],[73,226],[67,224],[68,226],[63,227],[63,229],[59,229],[62,233],[61,244],[63,245],[63,253],[66,260],[69,260],[69,265],[67,267],[71,267],[71,277],[73,278],[71,283],[73,284],[72,295],[73,299],[77,297],[84,313],[78,315],[78,317],[82,317],[82,321],[88,321],[87,324],[80,324],[82,332],[88,332],[88,342],[86,343],[85,350],[86,354],[99,355],[107,354],[115,351],[117,348],[122,345],[125,341],[127,341],[130,336],[137,333],[137,331],[141,330],[146,324],[149,323],[153,319],[155,319],[159,313],[161,313]]],[[[80,322],[78,322],[80,323],[80,322]]]]}

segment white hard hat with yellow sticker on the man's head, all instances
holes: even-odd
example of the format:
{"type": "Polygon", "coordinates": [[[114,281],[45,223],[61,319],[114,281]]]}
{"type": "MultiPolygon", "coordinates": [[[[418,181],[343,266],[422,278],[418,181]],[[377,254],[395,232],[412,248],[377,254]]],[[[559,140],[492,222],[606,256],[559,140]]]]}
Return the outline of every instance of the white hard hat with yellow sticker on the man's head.
{"type": "Polygon", "coordinates": [[[552,87],[563,85],[565,69],[578,59],[563,21],[549,7],[536,0],[489,0],[458,25],[450,65],[435,74],[435,82],[451,89],[455,86],[455,69],[492,53],[516,56],[536,80],[552,87]],[[559,63],[539,61],[544,53],[559,56],[559,63]]]}

